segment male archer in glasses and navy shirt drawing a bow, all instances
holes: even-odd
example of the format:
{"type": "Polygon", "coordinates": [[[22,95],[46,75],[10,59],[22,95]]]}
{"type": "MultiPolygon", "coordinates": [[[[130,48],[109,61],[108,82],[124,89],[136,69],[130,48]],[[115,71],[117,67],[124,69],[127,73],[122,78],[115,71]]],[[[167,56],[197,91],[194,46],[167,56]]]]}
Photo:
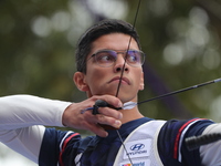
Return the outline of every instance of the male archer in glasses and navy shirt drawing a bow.
{"type": "Polygon", "coordinates": [[[96,23],[77,43],[73,76],[88,98],[70,103],[31,95],[0,97],[0,141],[40,166],[221,165],[220,142],[194,151],[185,144],[186,137],[219,132],[220,124],[201,118],[157,121],[144,117],[137,106],[124,108],[125,103],[136,103],[144,89],[144,60],[138,34],[129,23],[96,23]],[[123,108],[98,107],[94,115],[87,108],[97,100],[123,108]],[[82,138],[72,131],[44,126],[87,129],[96,136],[82,138]]]}

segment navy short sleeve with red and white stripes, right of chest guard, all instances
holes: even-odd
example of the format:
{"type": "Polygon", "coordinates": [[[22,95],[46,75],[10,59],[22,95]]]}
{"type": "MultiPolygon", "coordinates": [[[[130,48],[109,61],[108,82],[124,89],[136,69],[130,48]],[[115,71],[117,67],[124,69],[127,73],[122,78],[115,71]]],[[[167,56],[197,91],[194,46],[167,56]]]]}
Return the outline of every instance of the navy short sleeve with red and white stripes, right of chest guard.
{"type": "Polygon", "coordinates": [[[188,151],[185,139],[201,135],[209,120],[192,118],[188,121],[168,121],[158,136],[158,151],[165,166],[201,166],[199,148],[188,151]]]}

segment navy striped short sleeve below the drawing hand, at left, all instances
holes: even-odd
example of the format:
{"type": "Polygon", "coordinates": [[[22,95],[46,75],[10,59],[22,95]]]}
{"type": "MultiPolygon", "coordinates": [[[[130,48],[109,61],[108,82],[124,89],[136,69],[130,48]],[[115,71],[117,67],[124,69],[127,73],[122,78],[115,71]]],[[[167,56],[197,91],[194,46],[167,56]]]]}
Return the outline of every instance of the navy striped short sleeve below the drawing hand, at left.
{"type": "Polygon", "coordinates": [[[72,144],[77,144],[80,139],[78,133],[46,128],[40,149],[39,165],[57,166],[57,163],[62,165],[62,156],[65,152],[64,149],[69,146],[69,142],[72,141],[72,144]]]}

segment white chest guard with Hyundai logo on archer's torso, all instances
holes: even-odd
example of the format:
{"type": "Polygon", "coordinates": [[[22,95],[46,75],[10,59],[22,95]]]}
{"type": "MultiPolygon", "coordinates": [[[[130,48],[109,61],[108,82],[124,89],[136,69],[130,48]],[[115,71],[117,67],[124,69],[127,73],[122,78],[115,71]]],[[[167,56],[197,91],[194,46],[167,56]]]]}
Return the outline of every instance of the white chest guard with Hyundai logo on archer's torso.
{"type": "Polygon", "coordinates": [[[157,137],[166,121],[150,121],[133,131],[120,146],[114,166],[162,166],[157,137]]]}

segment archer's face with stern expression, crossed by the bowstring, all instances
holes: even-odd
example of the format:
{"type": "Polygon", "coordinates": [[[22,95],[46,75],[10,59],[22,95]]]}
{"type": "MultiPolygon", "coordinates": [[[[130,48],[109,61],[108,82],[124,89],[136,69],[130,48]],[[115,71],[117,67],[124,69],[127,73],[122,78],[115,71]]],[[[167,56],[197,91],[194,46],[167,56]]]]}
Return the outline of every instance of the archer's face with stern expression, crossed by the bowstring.
{"type": "MultiPolygon", "coordinates": [[[[123,33],[110,33],[102,35],[92,44],[91,58],[101,50],[126,51],[128,49],[130,37],[123,33]]],[[[136,41],[131,39],[129,50],[139,50],[136,41]]],[[[86,74],[82,75],[82,83],[84,84],[82,91],[86,91],[88,97],[93,95],[110,94],[116,95],[119,77],[124,65],[125,54],[118,53],[117,60],[112,66],[97,65],[95,58],[87,60],[86,74]]],[[[75,82],[76,83],[76,82],[75,82]]],[[[144,74],[140,66],[130,66],[125,64],[124,75],[119,87],[118,96],[123,103],[128,101],[136,101],[137,93],[144,89],[144,74]]]]}

